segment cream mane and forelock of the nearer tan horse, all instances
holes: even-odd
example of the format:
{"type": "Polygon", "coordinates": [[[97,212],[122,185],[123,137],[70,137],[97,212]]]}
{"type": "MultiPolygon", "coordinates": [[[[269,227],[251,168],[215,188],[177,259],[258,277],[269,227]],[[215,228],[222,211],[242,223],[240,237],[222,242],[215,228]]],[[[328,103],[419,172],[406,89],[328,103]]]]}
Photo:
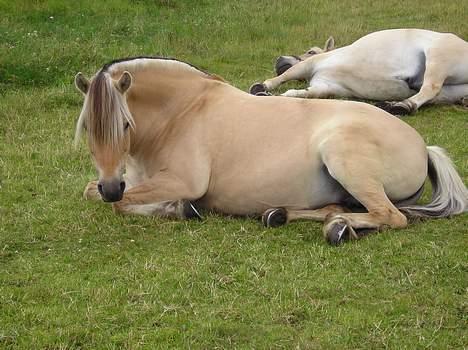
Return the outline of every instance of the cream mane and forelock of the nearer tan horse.
{"type": "Polygon", "coordinates": [[[86,130],[91,142],[117,147],[124,136],[125,121],[135,128],[134,119],[128,109],[126,99],[114,86],[112,75],[116,72],[137,72],[148,68],[184,70],[203,77],[222,80],[189,63],[165,57],[130,57],[117,59],[105,64],[92,79],[86,94],[83,109],[78,118],[75,145],[78,144],[82,130],[86,130]]]}

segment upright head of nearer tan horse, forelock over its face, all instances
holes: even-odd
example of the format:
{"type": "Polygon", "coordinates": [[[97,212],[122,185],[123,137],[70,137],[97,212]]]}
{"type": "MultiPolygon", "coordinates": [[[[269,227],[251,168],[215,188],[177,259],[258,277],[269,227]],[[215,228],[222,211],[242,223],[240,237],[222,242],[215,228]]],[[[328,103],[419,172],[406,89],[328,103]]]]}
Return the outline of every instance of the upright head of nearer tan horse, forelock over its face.
{"type": "Polygon", "coordinates": [[[81,73],[75,77],[76,87],[85,96],[75,142],[85,131],[99,172],[98,190],[106,202],[121,200],[125,190],[123,170],[130,150],[130,129],[135,127],[126,99],[131,84],[132,76],[128,72],[118,80],[102,70],[91,81],[81,73]]]}

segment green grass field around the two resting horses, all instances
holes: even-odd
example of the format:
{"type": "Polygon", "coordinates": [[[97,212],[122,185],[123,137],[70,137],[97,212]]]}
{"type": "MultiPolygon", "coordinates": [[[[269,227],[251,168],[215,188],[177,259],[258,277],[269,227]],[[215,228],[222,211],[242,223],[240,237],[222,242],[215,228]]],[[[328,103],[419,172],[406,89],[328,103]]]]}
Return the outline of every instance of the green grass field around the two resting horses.
{"type": "MultiPolygon", "coordinates": [[[[76,72],[159,54],[246,90],[331,34],[468,38],[468,3],[408,4],[0,0],[0,348],[467,348],[466,215],[333,248],[310,222],[122,217],[81,199],[96,175],[72,146],[76,72]]],[[[468,110],[405,120],[468,183],[468,110]]]]}

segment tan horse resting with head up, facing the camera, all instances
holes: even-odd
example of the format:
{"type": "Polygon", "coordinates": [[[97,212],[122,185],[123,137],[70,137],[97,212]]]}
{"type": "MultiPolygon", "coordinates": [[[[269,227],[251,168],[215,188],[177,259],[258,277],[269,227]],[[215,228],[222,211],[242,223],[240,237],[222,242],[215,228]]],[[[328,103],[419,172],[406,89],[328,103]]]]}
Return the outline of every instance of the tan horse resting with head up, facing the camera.
{"type": "Polygon", "coordinates": [[[84,196],[119,213],[319,220],[336,244],[361,229],[405,227],[405,215],[467,211],[444,152],[371,105],[256,97],[164,58],[115,61],[75,83],[85,95],[76,140],[87,134],[99,172],[84,196]],[[432,202],[415,205],[428,174],[432,202]]]}

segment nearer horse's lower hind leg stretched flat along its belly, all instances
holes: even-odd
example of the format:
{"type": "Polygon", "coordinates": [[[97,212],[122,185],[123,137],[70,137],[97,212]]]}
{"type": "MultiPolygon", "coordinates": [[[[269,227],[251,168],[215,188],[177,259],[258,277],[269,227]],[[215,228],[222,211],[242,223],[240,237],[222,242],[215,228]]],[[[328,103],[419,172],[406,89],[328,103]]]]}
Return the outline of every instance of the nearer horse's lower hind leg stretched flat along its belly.
{"type": "Polygon", "coordinates": [[[290,210],[285,208],[271,208],[262,215],[262,222],[266,227],[278,227],[296,220],[325,221],[330,215],[345,213],[348,210],[337,204],[330,204],[320,209],[290,210]]]}

